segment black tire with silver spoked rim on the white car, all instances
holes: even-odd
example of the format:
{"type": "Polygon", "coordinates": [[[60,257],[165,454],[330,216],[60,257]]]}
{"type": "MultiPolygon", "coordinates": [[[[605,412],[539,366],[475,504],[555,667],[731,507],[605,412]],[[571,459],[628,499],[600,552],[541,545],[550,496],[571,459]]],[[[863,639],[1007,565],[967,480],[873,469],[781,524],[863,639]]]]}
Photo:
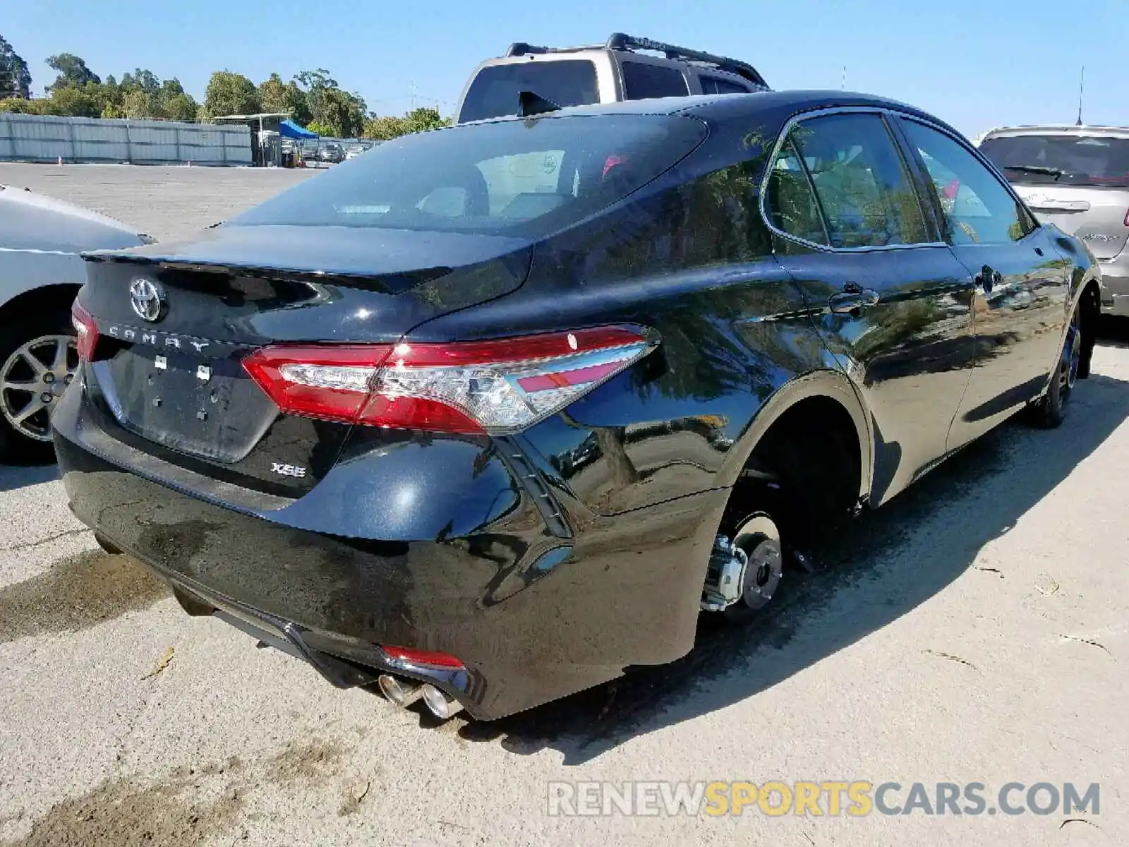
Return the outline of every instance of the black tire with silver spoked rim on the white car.
{"type": "MultiPolygon", "coordinates": [[[[43,464],[54,461],[50,414],[69,379],[61,377],[60,368],[49,367],[47,381],[20,351],[29,352],[43,365],[53,365],[52,348],[46,340],[63,337],[71,340],[67,346],[64,369],[73,373],[78,353],[73,348],[75,328],[68,309],[28,314],[0,326],[0,459],[5,462],[43,464]],[[44,357],[52,361],[44,361],[44,357]],[[11,387],[16,384],[27,384],[27,387],[11,387]],[[44,402],[47,396],[51,399],[44,402]],[[18,417],[29,405],[38,408],[21,425],[18,417]]],[[[59,343],[56,341],[56,348],[59,343]]]]}

